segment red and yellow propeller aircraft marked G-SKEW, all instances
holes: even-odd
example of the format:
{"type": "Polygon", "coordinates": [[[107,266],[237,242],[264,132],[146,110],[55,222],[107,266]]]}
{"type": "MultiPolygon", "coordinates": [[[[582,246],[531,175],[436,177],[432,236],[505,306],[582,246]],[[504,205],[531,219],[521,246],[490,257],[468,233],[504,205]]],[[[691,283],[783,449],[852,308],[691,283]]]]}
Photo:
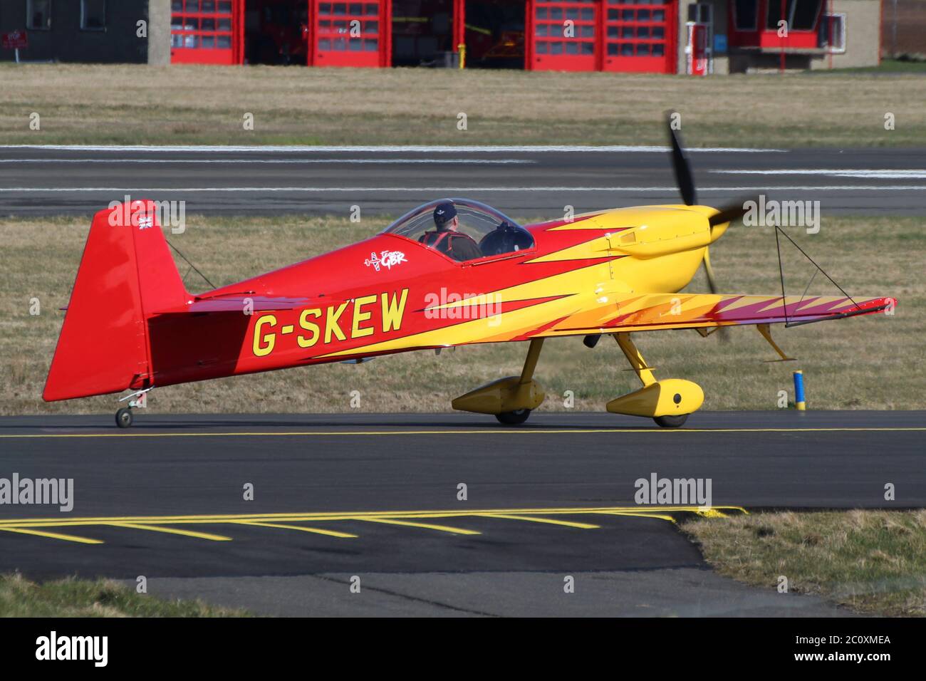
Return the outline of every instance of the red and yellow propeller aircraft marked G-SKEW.
{"type": "Polygon", "coordinates": [[[708,246],[745,211],[696,205],[674,132],[672,158],[684,205],[619,208],[521,227],[476,201],[443,199],[366,241],[199,295],[182,284],[152,202],[101,211],[43,397],[136,391],[116,414],[117,424],[128,427],[138,397],[155,386],[526,341],[519,376],[452,403],[515,424],[544,401],[533,372],[545,338],[585,336],[591,347],[610,334],[643,386],[611,400],[607,410],[677,427],[704,394],[690,381],[657,380],[632,332],[690,328],[707,335],[723,326],[757,325],[786,359],[771,340],[772,323],[893,309],[895,300],[883,296],[678,293],[702,262],[715,290],[708,246]]]}

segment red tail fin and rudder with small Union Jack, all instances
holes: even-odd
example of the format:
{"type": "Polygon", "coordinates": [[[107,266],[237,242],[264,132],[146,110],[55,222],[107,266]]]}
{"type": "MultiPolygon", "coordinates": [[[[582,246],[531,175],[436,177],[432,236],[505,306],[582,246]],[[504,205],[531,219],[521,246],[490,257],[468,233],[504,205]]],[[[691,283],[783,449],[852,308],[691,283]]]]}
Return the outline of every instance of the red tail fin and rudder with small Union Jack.
{"type": "Polygon", "coordinates": [[[46,401],[150,385],[148,316],[186,289],[151,201],[94,216],[43,396],[46,401]]]}

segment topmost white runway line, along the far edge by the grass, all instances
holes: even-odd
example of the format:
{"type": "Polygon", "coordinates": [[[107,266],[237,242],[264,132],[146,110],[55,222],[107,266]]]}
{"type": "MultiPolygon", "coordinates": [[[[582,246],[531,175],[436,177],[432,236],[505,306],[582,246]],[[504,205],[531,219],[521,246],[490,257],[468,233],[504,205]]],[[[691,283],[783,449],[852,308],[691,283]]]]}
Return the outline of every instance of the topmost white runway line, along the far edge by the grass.
{"type": "MultiPolygon", "coordinates": [[[[290,153],[304,154],[394,154],[394,153],[429,153],[429,154],[511,154],[511,153],[665,153],[668,146],[647,145],[362,145],[362,146],[311,146],[311,145],[0,145],[4,149],[39,149],[54,151],[132,151],[132,152],[189,152],[196,154],[254,154],[254,153],[290,153]]],[[[783,154],[785,149],[751,149],[735,146],[705,146],[686,149],[688,153],[699,152],[725,152],[733,154],[783,154]]]]}

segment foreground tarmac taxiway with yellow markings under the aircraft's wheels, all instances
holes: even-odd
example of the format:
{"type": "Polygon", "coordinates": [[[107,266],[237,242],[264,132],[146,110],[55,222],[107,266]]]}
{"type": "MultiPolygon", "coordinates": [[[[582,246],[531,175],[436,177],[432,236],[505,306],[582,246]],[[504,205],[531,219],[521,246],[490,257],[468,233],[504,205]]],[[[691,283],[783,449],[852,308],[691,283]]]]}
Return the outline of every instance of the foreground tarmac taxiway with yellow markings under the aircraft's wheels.
{"type": "Polygon", "coordinates": [[[0,572],[144,575],[150,593],[283,615],[840,615],[713,574],[676,527],[695,507],[641,506],[635,481],[709,478],[728,517],[926,505],[924,412],[686,425],[138,410],[119,431],[111,415],[4,417],[0,478],[72,478],[74,492],[69,512],[0,505],[0,572]]]}

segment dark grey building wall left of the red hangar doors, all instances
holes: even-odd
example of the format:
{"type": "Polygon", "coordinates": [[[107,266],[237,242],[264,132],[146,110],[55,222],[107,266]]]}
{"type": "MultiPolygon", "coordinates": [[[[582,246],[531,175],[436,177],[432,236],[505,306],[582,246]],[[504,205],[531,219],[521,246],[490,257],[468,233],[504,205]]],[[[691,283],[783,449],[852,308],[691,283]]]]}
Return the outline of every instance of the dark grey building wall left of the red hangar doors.
{"type": "MultiPolygon", "coordinates": [[[[26,0],[0,3],[0,32],[26,28],[26,0]]],[[[147,17],[148,0],[107,0],[106,29],[81,31],[81,0],[53,0],[51,28],[30,30],[29,48],[19,58],[31,61],[130,62],[148,60],[148,41],[135,32],[136,22],[147,17]]],[[[168,19],[168,31],[169,19],[168,19]]],[[[0,60],[14,58],[13,50],[0,48],[0,60]]]]}

